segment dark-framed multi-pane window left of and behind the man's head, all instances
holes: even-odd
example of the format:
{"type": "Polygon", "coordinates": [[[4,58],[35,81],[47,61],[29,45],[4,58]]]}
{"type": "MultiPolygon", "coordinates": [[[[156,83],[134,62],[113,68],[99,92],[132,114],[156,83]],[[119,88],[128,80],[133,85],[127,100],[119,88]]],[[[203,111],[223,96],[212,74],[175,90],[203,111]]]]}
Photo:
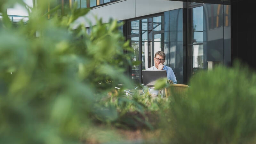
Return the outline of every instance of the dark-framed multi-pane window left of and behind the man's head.
{"type": "Polygon", "coordinates": [[[132,80],[137,84],[142,83],[141,71],[154,66],[155,52],[164,50],[163,25],[163,15],[127,21],[126,37],[133,48],[132,61],[141,62],[132,66],[132,80]]]}

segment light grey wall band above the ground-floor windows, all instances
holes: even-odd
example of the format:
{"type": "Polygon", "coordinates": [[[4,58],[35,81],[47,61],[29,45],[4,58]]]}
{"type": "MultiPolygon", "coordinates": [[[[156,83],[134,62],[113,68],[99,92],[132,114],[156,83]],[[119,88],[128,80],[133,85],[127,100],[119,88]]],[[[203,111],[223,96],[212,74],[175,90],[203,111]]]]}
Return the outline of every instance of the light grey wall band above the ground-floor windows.
{"type": "Polygon", "coordinates": [[[93,8],[87,15],[80,17],[75,23],[90,26],[87,20],[95,25],[95,16],[107,23],[110,18],[127,20],[149,14],[170,11],[182,8],[182,2],[166,0],[123,0],[93,8]]]}

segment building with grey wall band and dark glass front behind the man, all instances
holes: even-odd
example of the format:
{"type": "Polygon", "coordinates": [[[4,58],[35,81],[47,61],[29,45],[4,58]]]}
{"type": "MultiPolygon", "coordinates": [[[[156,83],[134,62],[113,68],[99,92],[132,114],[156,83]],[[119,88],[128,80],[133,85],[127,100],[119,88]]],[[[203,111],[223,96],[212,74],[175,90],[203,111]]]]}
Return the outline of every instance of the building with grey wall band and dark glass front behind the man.
{"type": "Polygon", "coordinates": [[[255,50],[250,50],[256,39],[255,23],[250,20],[254,1],[70,0],[69,4],[74,2],[78,8],[92,7],[77,23],[89,26],[85,19],[94,23],[95,15],[103,22],[109,18],[124,21],[124,36],[134,48],[132,60],[142,62],[132,67],[139,70],[140,82],[141,70],[154,65],[158,50],[166,53],[165,65],[174,70],[181,84],[188,83],[198,70],[207,69],[207,61],[230,65],[241,58],[256,67],[255,50]]]}

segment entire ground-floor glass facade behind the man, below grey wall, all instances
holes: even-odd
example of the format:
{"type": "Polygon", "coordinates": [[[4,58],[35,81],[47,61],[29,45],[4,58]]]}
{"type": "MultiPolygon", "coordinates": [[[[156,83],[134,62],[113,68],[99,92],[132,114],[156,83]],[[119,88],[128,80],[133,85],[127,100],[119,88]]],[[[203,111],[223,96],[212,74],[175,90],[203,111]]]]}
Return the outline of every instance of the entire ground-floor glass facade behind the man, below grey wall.
{"type": "Polygon", "coordinates": [[[173,69],[179,84],[188,84],[198,71],[207,70],[208,61],[231,63],[230,5],[190,3],[188,8],[130,20],[127,29],[134,47],[132,60],[141,61],[132,67],[140,83],[141,70],[154,65],[157,51],[164,51],[164,64],[173,69]]]}

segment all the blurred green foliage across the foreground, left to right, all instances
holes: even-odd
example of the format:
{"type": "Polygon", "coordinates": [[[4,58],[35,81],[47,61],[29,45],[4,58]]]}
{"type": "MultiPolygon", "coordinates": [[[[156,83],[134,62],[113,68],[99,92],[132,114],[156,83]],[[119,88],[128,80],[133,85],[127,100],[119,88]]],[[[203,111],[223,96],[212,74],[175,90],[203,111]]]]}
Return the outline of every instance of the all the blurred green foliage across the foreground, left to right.
{"type": "Polygon", "coordinates": [[[124,72],[138,62],[122,24],[96,18],[87,35],[73,26],[89,9],[60,16],[60,6],[46,11],[51,0],[27,7],[26,24],[13,24],[6,8],[16,2],[26,6],[0,1],[0,143],[124,143],[111,126],[161,131],[134,143],[255,143],[256,74],[243,64],[196,74],[186,96],[127,96],[135,85],[124,72]]]}

